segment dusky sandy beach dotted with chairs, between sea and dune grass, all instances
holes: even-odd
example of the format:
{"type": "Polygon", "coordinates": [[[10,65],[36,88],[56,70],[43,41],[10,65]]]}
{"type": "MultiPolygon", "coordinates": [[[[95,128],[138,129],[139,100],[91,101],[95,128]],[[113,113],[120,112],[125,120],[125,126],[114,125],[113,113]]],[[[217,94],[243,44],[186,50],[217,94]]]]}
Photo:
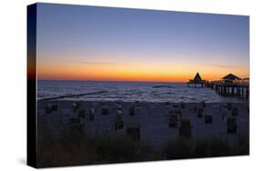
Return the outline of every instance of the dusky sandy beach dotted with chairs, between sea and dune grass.
{"type": "Polygon", "coordinates": [[[184,118],[189,119],[191,125],[191,134],[186,136],[191,142],[198,138],[220,137],[230,144],[236,143],[239,136],[249,136],[248,108],[247,102],[204,106],[202,103],[38,101],[37,118],[39,123],[50,126],[56,136],[68,131],[70,125],[82,126],[89,137],[125,136],[129,128],[138,128],[139,142],[159,148],[170,139],[182,136],[179,127],[184,118]],[[202,117],[197,115],[200,108],[204,111],[202,117]],[[133,109],[134,115],[130,115],[133,109]],[[235,110],[238,111],[237,116],[232,115],[235,110]],[[108,112],[104,114],[102,111],[108,112]],[[182,116],[178,115],[177,127],[170,127],[169,116],[179,111],[182,116]],[[212,123],[206,124],[205,116],[211,116],[212,123]],[[235,133],[227,132],[228,117],[236,119],[235,133]],[[115,123],[119,124],[118,128],[115,128],[115,123]]]}

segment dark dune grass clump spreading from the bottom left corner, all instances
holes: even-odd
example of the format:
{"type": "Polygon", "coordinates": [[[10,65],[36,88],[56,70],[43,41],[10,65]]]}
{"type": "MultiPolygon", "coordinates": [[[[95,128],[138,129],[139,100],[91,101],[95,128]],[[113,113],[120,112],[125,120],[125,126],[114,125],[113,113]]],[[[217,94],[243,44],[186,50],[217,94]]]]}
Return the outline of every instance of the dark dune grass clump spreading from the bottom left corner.
{"type": "Polygon", "coordinates": [[[82,129],[54,135],[41,126],[38,135],[38,167],[97,165],[153,160],[151,147],[128,136],[87,137],[82,129]]]}

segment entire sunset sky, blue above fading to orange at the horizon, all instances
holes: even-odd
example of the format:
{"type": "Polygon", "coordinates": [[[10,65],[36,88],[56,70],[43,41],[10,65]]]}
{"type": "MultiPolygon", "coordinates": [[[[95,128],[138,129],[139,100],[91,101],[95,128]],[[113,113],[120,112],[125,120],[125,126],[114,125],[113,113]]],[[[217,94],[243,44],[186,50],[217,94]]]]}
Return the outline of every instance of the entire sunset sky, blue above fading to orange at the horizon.
{"type": "Polygon", "coordinates": [[[249,77],[249,16],[38,4],[36,25],[39,79],[249,77]]]}

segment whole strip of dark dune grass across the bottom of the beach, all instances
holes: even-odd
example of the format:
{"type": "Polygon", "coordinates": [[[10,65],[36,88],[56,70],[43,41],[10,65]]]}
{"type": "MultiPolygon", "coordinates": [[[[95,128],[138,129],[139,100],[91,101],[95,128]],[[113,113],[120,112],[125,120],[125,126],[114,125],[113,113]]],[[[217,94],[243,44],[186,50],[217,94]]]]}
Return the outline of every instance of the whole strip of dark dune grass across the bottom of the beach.
{"type": "Polygon", "coordinates": [[[249,136],[239,136],[230,145],[219,137],[169,140],[158,150],[128,136],[87,137],[82,128],[60,131],[56,136],[47,125],[39,126],[38,167],[97,165],[210,156],[249,155],[249,136]]]}

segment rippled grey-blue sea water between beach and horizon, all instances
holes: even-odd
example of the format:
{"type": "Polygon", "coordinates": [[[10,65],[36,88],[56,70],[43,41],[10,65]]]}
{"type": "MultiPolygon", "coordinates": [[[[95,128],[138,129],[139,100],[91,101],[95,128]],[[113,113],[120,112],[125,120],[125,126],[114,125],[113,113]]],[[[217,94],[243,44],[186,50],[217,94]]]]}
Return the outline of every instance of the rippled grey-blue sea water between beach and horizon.
{"type": "Polygon", "coordinates": [[[68,97],[64,100],[148,101],[148,102],[242,102],[237,97],[219,96],[214,90],[187,87],[185,83],[46,81],[37,82],[37,99],[96,93],[68,97]],[[160,87],[154,87],[159,86],[160,87]],[[97,93],[105,91],[104,93],[97,93]]]}

